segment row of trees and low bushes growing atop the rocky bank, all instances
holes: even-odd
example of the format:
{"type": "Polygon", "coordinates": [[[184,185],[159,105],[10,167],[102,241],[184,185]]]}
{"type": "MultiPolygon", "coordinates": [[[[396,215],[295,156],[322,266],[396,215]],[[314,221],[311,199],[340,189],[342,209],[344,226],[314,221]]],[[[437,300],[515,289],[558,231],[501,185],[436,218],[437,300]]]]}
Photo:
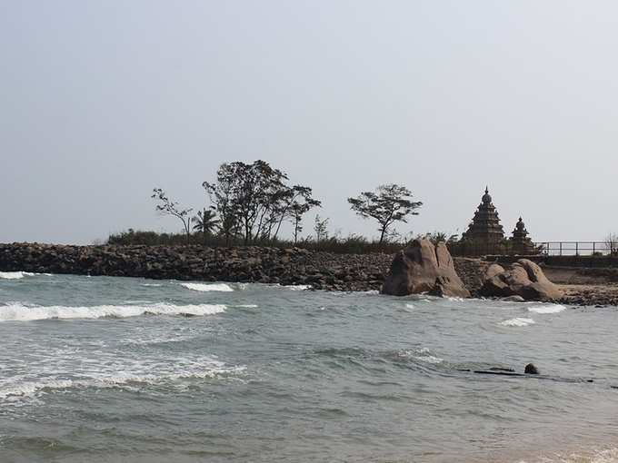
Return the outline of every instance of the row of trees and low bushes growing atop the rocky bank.
{"type": "MultiPolygon", "coordinates": [[[[274,246],[330,252],[394,252],[411,238],[404,239],[394,230],[395,222],[407,222],[423,202],[411,201],[412,193],[401,185],[380,185],[375,192],[362,192],[358,198],[349,198],[351,209],[363,218],[379,223],[378,241],[351,234],[328,231],[330,219],[315,216],[314,235],[301,236],[304,215],[322,203],[314,199],[313,190],[304,185],[290,184],[287,173],[269,163],[223,163],[216,171],[213,182],[202,186],[208,204],[198,208],[184,208],[172,201],[161,188],[154,188],[152,198],[155,210],[175,217],[182,223],[182,233],[157,233],[128,229],[112,233],[111,245],[204,245],[204,246],[274,246]],[[284,239],[281,231],[287,222],[292,238],[284,239]]],[[[418,235],[417,237],[420,237],[418,235]]],[[[445,233],[429,233],[433,241],[448,240],[445,233]]],[[[453,239],[453,237],[451,237],[453,239]]]]}

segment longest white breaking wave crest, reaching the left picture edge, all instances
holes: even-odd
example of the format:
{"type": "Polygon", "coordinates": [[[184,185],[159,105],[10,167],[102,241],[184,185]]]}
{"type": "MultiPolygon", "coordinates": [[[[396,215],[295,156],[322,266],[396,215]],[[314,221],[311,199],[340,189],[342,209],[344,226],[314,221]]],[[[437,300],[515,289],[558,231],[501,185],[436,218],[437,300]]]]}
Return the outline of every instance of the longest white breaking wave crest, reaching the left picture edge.
{"type": "Polygon", "coordinates": [[[154,315],[213,315],[225,311],[221,304],[174,305],[98,305],[92,307],[27,306],[10,303],[0,306],[0,321],[30,321],[51,319],[101,319],[136,317],[145,313],[154,315]]]}

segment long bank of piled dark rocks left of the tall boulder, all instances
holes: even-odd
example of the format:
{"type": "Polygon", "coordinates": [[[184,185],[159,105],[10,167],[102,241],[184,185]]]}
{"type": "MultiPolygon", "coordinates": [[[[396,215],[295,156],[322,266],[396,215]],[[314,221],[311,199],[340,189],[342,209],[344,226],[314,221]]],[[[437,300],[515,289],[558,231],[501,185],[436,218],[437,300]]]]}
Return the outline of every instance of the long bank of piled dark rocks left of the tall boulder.
{"type": "Polygon", "coordinates": [[[0,271],[72,273],[195,281],[379,290],[389,254],[334,254],[300,248],[0,244],[0,271]]]}

